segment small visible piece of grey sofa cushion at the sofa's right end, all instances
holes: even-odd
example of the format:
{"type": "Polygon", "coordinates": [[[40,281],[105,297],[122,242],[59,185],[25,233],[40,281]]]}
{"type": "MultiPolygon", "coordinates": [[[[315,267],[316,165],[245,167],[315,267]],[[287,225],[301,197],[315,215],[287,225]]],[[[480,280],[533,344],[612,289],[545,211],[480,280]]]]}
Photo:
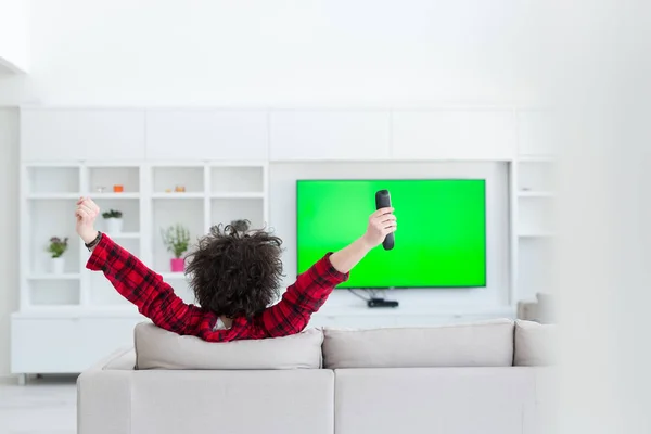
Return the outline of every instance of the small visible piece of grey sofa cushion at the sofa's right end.
{"type": "Polygon", "coordinates": [[[515,366],[549,366],[554,361],[557,327],[534,321],[515,321],[515,366]]]}

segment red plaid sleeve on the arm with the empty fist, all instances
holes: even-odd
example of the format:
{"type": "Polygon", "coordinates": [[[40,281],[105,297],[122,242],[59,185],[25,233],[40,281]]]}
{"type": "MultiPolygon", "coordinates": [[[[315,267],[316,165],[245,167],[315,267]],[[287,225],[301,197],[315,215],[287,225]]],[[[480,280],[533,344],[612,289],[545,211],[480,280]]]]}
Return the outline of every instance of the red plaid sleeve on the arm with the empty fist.
{"type": "Polygon", "coordinates": [[[184,304],[161,275],[149,269],[106,234],[102,234],[86,268],[102,271],[122,296],[162,329],[193,334],[201,322],[201,308],[184,304]]]}

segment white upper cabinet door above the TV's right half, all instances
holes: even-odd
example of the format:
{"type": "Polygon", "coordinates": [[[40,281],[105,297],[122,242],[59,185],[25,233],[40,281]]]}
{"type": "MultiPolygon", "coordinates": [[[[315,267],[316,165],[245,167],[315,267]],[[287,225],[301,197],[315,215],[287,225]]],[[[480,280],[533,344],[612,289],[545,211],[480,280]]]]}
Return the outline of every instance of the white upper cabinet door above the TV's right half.
{"type": "Polygon", "coordinates": [[[515,154],[513,111],[396,111],[395,159],[508,161],[515,154]]]}

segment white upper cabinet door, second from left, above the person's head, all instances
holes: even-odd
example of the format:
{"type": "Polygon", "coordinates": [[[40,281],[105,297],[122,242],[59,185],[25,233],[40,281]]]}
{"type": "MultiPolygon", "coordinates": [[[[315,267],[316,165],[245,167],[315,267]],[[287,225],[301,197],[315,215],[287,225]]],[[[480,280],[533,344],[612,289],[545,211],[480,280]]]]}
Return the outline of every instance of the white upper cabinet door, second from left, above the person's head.
{"type": "Polygon", "coordinates": [[[152,110],[146,114],[149,159],[264,161],[265,111],[152,110]]]}

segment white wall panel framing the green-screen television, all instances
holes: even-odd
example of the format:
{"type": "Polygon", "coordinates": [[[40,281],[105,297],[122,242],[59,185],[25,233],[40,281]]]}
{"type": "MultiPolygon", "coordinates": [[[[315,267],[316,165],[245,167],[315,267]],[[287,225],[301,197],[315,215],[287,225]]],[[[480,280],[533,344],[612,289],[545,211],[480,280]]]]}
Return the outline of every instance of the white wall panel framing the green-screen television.
{"type": "MultiPolygon", "coordinates": [[[[387,297],[407,309],[472,310],[509,303],[509,187],[503,163],[273,163],[269,167],[269,219],[282,238],[285,284],[296,277],[296,180],[382,178],[486,179],[487,285],[482,289],[393,290],[387,297]]],[[[363,225],[362,225],[363,226],[363,225]]],[[[361,235],[361,233],[360,233],[361,235]]],[[[350,240],[354,241],[354,240],[350,240]]],[[[347,291],[337,290],[322,311],[363,306],[347,291]]]]}

